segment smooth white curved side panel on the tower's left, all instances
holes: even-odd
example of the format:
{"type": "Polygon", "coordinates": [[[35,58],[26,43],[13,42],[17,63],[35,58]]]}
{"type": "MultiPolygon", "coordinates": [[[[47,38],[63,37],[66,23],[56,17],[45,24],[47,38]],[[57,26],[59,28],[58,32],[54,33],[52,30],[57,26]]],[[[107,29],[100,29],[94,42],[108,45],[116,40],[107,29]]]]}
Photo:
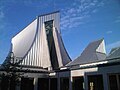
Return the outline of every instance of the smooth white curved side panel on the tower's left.
{"type": "Polygon", "coordinates": [[[29,51],[36,34],[37,19],[12,38],[12,52],[16,57],[24,57],[29,51]]]}

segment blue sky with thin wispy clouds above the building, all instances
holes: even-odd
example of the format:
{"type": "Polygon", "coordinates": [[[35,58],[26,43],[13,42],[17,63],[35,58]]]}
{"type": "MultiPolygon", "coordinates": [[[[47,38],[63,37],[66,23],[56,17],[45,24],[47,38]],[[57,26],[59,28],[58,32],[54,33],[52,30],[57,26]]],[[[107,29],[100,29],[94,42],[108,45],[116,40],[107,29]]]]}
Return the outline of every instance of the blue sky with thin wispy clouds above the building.
{"type": "Polygon", "coordinates": [[[0,64],[13,36],[36,16],[58,10],[62,39],[72,60],[94,40],[104,38],[107,54],[120,46],[120,0],[0,0],[0,64]]]}

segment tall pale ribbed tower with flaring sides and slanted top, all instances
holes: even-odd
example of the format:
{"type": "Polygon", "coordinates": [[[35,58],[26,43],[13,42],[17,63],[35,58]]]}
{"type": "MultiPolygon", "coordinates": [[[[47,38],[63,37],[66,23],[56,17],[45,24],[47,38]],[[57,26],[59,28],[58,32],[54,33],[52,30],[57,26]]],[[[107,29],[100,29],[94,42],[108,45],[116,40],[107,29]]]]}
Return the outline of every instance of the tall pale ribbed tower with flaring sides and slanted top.
{"type": "Polygon", "coordinates": [[[57,69],[71,61],[60,34],[60,14],[38,16],[12,38],[12,52],[21,65],[57,69]]]}

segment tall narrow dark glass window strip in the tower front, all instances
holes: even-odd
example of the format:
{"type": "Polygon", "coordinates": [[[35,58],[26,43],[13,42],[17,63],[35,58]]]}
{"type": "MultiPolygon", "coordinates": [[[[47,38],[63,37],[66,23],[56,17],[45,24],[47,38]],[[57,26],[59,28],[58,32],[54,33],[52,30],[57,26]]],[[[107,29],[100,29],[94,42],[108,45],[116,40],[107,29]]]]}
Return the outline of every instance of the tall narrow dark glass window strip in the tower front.
{"type": "Polygon", "coordinates": [[[58,69],[58,60],[53,38],[53,20],[45,22],[45,30],[49,47],[50,59],[53,69],[58,69]]]}

